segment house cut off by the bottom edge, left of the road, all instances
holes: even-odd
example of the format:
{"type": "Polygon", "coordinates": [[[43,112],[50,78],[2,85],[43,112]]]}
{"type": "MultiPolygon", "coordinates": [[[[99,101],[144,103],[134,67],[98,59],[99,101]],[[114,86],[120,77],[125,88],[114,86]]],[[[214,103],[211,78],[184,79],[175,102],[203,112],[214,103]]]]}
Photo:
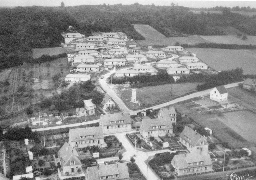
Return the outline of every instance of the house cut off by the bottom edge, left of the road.
{"type": "Polygon", "coordinates": [[[105,164],[100,163],[97,166],[87,167],[85,180],[129,180],[127,163],[105,164]]]}

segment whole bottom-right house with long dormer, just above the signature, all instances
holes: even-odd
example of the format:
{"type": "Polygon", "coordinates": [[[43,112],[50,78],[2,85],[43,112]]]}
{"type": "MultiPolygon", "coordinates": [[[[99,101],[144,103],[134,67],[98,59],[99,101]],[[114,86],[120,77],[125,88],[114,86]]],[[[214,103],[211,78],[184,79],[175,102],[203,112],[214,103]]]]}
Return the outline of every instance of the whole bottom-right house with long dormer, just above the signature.
{"type": "Polygon", "coordinates": [[[177,176],[212,172],[212,160],[208,153],[176,154],[171,165],[175,168],[177,176]]]}

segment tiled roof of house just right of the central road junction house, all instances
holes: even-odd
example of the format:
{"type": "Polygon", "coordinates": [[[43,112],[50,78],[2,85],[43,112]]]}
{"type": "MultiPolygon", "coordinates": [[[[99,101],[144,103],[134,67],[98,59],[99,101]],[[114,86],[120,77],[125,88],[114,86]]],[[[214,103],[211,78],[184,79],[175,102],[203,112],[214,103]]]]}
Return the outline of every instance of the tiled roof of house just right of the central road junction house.
{"type": "Polygon", "coordinates": [[[142,119],[141,122],[142,129],[144,131],[149,130],[161,130],[161,129],[172,129],[172,123],[167,118],[156,118],[156,119],[142,119]],[[158,129],[153,129],[153,126],[165,126],[158,129]]]}

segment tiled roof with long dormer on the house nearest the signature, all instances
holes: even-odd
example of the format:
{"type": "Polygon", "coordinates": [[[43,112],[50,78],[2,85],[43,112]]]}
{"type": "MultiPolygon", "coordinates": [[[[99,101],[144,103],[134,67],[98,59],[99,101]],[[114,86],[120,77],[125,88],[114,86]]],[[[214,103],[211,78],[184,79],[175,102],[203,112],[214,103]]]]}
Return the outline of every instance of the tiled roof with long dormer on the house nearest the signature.
{"type": "Polygon", "coordinates": [[[187,168],[195,168],[200,166],[208,166],[212,165],[212,161],[210,158],[210,155],[208,153],[187,153],[187,154],[177,154],[173,157],[173,160],[175,161],[175,166],[180,169],[187,169],[187,168]],[[201,165],[192,165],[188,166],[188,163],[196,163],[203,161],[203,164],[201,165]]]}

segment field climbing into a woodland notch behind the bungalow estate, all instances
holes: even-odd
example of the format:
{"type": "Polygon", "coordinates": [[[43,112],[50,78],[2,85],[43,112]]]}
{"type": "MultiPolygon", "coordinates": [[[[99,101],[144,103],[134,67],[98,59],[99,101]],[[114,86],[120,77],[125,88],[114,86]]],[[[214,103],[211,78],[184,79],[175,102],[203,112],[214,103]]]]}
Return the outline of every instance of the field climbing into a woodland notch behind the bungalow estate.
{"type": "Polygon", "coordinates": [[[146,39],[137,41],[137,43],[139,43],[142,46],[171,46],[174,45],[176,42],[179,42],[180,44],[189,45],[194,45],[198,43],[209,43],[209,41],[201,38],[200,36],[167,38],[149,25],[135,24],[134,28],[146,39]]]}

